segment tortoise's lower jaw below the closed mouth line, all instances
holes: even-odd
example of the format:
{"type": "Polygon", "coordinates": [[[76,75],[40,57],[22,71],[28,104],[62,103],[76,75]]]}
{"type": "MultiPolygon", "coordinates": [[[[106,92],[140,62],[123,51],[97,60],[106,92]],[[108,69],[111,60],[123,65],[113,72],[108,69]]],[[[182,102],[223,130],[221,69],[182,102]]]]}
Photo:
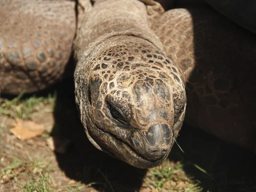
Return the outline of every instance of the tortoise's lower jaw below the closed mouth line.
{"type": "MultiPolygon", "coordinates": [[[[94,124],[95,125],[95,124],[94,124]]],[[[156,159],[156,160],[151,160],[148,159],[146,157],[144,157],[142,154],[138,153],[131,145],[129,145],[127,142],[125,142],[124,140],[119,139],[116,135],[111,134],[108,131],[103,131],[101,128],[99,128],[97,125],[95,125],[96,128],[98,128],[99,130],[101,130],[103,132],[103,134],[107,135],[107,137],[109,139],[112,139],[115,141],[116,143],[116,148],[119,149],[126,149],[126,151],[130,154],[128,155],[128,158],[133,158],[132,160],[129,160],[127,157],[125,157],[124,155],[122,155],[123,153],[117,153],[114,150],[109,150],[109,148],[106,147],[106,145],[104,145],[104,143],[101,142],[101,140],[99,138],[95,138],[93,137],[93,140],[102,148],[102,151],[104,151],[105,153],[108,153],[109,155],[111,155],[112,157],[115,157],[119,160],[123,160],[126,163],[138,167],[138,168],[151,168],[151,167],[155,167],[160,165],[161,163],[163,163],[163,161],[167,158],[168,153],[166,155],[164,155],[163,157],[156,159]],[[136,162],[135,163],[135,159],[136,162]],[[133,161],[134,163],[131,163],[131,161],[133,161]]],[[[92,135],[90,135],[92,137],[92,135]]],[[[127,154],[127,153],[125,153],[127,154]]]]}

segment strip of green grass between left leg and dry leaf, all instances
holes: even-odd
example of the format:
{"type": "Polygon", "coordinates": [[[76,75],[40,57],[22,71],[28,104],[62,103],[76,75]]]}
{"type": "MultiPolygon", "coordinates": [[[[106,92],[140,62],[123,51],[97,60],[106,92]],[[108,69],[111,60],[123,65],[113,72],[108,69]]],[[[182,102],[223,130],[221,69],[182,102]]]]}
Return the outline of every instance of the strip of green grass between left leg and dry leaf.
{"type": "MultiPolygon", "coordinates": [[[[14,118],[29,119],[29,115],[37,111],[40,105],[55,105],[56,94],[49,94],[48,97],[31,96],[23,99],[24,92],[12,100],[0,98],[0,114],[14,118]]],[[[45,110],[51,110],[45,108],[45,110]]],[[[50,111],[49,111],[50,112],[50,111]]]]}

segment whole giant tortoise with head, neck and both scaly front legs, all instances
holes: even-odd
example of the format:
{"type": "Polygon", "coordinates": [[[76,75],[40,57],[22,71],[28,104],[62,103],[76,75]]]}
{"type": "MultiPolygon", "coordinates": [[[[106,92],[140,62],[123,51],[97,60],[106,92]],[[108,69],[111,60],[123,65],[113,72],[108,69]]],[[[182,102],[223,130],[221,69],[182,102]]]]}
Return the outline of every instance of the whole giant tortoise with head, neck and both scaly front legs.
{"type": "Polygon", "coordinates": [[[158,166],[186,111],[255,151],[255,3],[207,0],[223,16],[194,1],[162,0],[167,12],[154,0],[0,1],[0,91],[55,84],[73,50],[76,104],[99,150],[158,166]]]}

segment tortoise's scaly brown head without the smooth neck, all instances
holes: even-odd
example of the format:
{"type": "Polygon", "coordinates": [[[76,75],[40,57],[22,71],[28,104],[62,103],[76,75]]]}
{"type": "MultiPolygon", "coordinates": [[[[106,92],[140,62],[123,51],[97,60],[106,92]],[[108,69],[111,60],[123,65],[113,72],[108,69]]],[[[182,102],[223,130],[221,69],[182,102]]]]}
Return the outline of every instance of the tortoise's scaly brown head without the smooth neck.
{"type": "Polygon", "coordinates": [[[82,105],[77,99],[81,119],[100,150],[138,168],[158,166],[184,119],[184,85],[177,68],[149,42],[120,44],[95,53],[88,88],[79,90],[86,99],[82,105]]]}

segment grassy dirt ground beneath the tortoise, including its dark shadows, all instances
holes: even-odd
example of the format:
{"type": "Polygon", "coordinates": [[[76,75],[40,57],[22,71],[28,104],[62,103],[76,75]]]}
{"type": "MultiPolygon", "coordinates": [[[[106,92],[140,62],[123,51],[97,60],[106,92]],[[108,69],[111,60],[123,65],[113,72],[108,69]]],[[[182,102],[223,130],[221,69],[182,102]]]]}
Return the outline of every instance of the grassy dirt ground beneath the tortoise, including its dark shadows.
{"type": "Polygon", "coordinates": [[[110,157],[87,140],[73,93],[66,80],[36,95],[0,98],[0,191],[256,191],[255,154],[187,125],[161,167],[136,169],[110,157]],[[12,134],[29,126],[45,132],[28,140],[12,134]]]}

